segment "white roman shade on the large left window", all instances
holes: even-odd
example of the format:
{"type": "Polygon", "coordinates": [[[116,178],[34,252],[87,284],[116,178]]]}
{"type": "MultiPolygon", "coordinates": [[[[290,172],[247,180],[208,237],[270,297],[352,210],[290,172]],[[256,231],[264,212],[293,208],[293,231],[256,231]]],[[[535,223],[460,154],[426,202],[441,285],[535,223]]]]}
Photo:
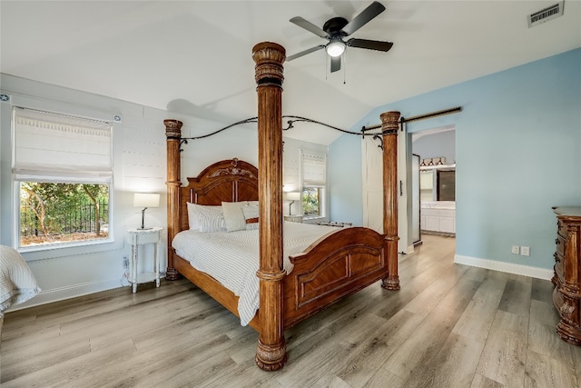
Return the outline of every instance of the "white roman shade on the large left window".
{"type": "Polygon", "coordinates": [[[15,180],[111,181],[111,123],[20,107],[15,107],[14,123],[15,180]]]}

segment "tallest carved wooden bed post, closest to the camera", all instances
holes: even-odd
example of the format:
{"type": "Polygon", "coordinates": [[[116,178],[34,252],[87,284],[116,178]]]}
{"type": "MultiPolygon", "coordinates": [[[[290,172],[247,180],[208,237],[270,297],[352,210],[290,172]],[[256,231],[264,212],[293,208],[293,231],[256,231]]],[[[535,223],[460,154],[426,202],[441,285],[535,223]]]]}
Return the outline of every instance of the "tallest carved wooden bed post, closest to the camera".
{"type": "Polygon", "coordinates": [[[263,42],[252,48],[258,95],[258,171],[261,264],[261,331],[256,364],[280,369],[287,360],[282,318],[282,63],[281,45],[263,42]]]}

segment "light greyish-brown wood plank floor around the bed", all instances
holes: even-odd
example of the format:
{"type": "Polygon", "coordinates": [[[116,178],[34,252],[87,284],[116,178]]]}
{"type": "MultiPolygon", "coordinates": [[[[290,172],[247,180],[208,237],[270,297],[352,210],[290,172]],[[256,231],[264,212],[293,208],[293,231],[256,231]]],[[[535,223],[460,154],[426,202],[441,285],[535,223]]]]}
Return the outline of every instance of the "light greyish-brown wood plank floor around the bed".
{"type": "Polygon", "coordinates": [[[549,281],[453,264],[424,236],[379,284],[286,333],[289,361],[253,362],[257,333],[188,281],[7,313],[8,387],[578,387],[581,348],[555,333],[549,281]]]}

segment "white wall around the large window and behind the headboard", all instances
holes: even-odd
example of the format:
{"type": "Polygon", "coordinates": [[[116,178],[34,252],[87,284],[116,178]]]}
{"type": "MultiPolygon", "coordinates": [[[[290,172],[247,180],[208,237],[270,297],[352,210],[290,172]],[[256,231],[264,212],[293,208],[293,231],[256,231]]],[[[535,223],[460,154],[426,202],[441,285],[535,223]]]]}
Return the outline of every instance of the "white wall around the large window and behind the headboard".
{"type": "MultiPolygon", "coordinates": [[[[10,101],[0,103],[0,244],[15,246],[16,238],[13,227],[16,215],[11,172],[12,104],[34,101],[70,114],[96,112],[108,114],[110,117],[118,114],[122,118],[120,123],[113,124],[113,202],[116,205],[109,226],[110,231],[113,231],[113,243],[23,253],[43,291],[29,302],[15,308],[128,285],[123,278],[123,256],[130,256],[131,246],[125,241],[125,231],[141,224],[141,208],[133,207],[133,193],[160,193],[160,206],[147,209],[145,224],[159,226],[167,224],[166,145],[163,120],[172,118],[182,121],[182,137],[187,138],[209,134],[232,122],[247,118],[236,117],[232,118],[230,123],[222,123],[189,114],[153,109],[103,95],[37,83],[12,75],[0,76],[2,93],[11,96],[10,101]]],[[[248,117],[255,115],[255,112],[249,112],[248,117]]],[[[188,144],[182,144],[182,182],[186,182],[186,177],[196,176],[207,165],[222,159],[238,157],[258,165],[257,143],[256,124],[237,125],[211,137],[188,140],[188,144]]],[[[327,152],[327,146],[324,145],[285,139],[284,156],[289,157],[289,162],[285,162],[285,165],[290,166],[284,169],[290,176],[285,182],[296,181],[293,175],[298,171],[298,155],[301,148],[327,152]]],[[[288,205],[286,207],[288,208],[288,205]]],[[[298,212],[298,208],[296,211],[298,212]]],[[[167,267],[165,232],[161,245],[161,268],[164,273],[167,267]]],[[[151,249],[151,245],[146,246],[145,253],[151,253],[151,249]]],[[[141,268],[151,267],[153,263],[149,261],[141,268]]],[[[128,289],[127,292],[131,291],[128,289]]]]}

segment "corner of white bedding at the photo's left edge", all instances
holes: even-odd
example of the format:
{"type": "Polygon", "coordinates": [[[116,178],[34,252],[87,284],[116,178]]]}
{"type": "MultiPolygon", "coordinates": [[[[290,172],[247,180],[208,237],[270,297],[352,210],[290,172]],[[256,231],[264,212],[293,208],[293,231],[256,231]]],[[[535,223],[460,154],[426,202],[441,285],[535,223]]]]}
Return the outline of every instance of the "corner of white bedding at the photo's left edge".
{"type": "Polygon", "coordinates": [[[24,303],[39,292],[25,259],[14,248],[0,245],[0,318],[8,307],[24,303]]]}

